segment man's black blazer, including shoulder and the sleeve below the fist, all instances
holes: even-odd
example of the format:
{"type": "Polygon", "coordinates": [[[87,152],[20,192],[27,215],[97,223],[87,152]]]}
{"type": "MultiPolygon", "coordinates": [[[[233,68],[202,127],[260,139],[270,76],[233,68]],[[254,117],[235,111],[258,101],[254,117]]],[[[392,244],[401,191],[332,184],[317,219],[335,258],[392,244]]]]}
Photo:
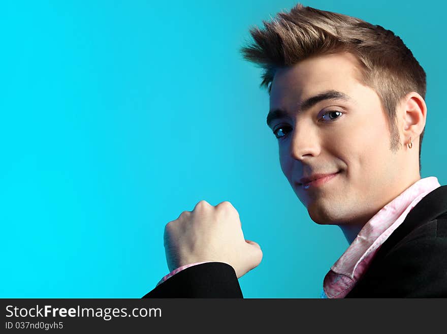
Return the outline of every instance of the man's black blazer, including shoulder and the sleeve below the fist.
{"type": "MultiPolygon", "coordinates": [[[[345,298],[447,297],[447,186],[427,194],[381,245],[345,298]]],[[[143,298],[243,298],[233,267],[180,271],[143,298]]]]}

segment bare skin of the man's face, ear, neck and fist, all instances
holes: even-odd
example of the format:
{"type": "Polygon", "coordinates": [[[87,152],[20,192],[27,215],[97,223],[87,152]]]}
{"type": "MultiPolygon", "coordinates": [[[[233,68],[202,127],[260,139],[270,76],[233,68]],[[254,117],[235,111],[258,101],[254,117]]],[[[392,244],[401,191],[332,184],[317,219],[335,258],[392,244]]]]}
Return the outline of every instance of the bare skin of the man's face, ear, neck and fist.
{"type": "MultiPolygon", "coordinates": [[[[358,66],[350,53],[313,56],[279,69],[270,92],[270,110],[285,112],[270,123],[281,137],[282,172],[310,218],[338,225],[349,243],[382,207],[421,179],[419,136],[427,112],[418,93],[401,99],[400,148],[392,151],[387,116],[375,91],[359,80],[358,66]],[[303,101],[326,90],[342,92],[349,100],[323,100],[301,110],[303,101]],[[303,176],[337,171],[320,187],[305,190],[297,184],[303,176]]],[[[239,214],[228,201],[213,206],[202,200],[193,211],[183,211],[166,225],[164,244],[170,270],[216,261],[233,266],[239,278],[263,256],[256,242],[244,238],[239,214]]]]}

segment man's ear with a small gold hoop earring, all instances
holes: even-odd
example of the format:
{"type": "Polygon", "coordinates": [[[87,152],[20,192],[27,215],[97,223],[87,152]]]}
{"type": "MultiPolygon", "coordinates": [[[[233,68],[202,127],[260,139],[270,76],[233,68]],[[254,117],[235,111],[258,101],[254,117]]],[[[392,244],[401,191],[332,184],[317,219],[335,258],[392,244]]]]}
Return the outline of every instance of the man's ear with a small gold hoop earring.
{"type": "Polygon", "coordinates": [[[425,127],[427,119],[427,105],[421,95],[410,92],[401,101],[401,120],[403,122],[403,145],[405,146],[410,137],[419,144],[419,136],[425,127]]]}

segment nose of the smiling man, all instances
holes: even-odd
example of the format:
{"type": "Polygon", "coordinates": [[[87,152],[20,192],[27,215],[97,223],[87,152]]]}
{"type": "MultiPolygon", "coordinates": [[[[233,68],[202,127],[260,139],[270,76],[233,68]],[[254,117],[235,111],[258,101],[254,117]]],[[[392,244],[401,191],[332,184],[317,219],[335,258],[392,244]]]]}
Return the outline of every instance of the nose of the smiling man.
{"type": "Polygon", "coordinates": [[[296,160],[305,160],[320,155],[320,138],[309,126],[295,126],[291,133],[290,156],[296,160]]]}

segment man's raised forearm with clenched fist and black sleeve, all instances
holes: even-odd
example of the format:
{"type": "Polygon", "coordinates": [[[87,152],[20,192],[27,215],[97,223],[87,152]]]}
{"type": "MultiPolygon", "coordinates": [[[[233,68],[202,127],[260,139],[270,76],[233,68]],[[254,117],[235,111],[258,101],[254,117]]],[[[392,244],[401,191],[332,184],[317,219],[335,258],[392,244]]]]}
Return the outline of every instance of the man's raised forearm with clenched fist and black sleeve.
{"type": "MultiPolygon", "coordinates": [[[[230,202],[206,201],[183,211],[165,226],[168,268],[175,275],[143,298],[243,298],[238,278],[258,266],[261,247],[246,240],[237,210],[230,202]],[[189,263],[207,262],[187,267],[189,263]]],[[[163,279],[162,279],[163,281],[163,279]]]]}

